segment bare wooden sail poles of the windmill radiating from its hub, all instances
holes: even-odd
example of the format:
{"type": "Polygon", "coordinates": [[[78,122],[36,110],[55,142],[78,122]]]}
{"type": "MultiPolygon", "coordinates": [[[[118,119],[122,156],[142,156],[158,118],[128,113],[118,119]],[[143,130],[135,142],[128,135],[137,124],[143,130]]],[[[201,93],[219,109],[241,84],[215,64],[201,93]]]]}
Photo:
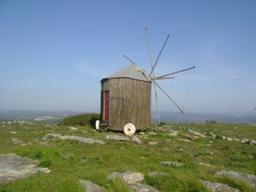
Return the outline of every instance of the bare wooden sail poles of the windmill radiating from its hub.
{"type": "MultiPolygon", "coordinates": [[[[180,110],[183,114],[183,110],[181,109],[181,107],[178,106],[178,104],[176,104],[176,102],[172,99],[172,97],[170,97],[170,95],[168,95],[164,90],[163,88],[161,88],[161,86],[159,86],[158,83],[156,83],[156,80],[168,80],[168,79],[173,79],[174,77],[170,76],[170,75],[174,75],[176,73],[181,73],[183,71],[188,71],[188,70],[191,70],[191,69],[194,69],[196,67],[190,67],[190,68],[187,68],[187,69],[183,69],[183,70],[180,70],[180,71],[176,71],[176,72],[173,72],[173,73],[167,73],[165,75],[161,75],[159,77],[156,77],[154,75],[154,69],[156,67],[156,64],[158,63],[159,61],[159,58],[161,56],[161,53],[163,52],[163,49],[165,48],[165,45],[167,43],[167,40],[168,38],[170,37],[170,34],[167,35],[167,38],[165,39],[165,43],[163,44],[163,47],[161,48],[161,51],[159,52],[159,55],[157,56],[156,58],[156,61],[154,62],[154,65],[153,65],[153,62],[152,62],[152,54],[151,54],[151,51],[150,51],[150,40],[149,40],[149,36],[148,36],[148,28],[146,27],[146,36],[147,36],[147,43],[148,43],[148,53],[149,53],[149,57],[150,57],[150,65],[151,65],[151,71],[149,73],[149,77],[150,77],[150,80],[153,82],[154,84],[154,95],[155,95],[155,98],[156,98],[156,108],[157,108],[157,113],[158,113],[158,123],[159,123],[159,126],[161,124],[161,117],[160,117],[160,110],[159,110],[159,101],[158,101],[158,95],[157,95],[157,92],[156,92],[156,87],[158,87],[167,97],[168,99],[170,99],[172,101],[172,103],[174,104],[174,106],[176,106],[176,108],[178,108],[178,110],[180,110]]],[[[132,62],[132,64],[136,64],[135,62],[133,62],[130,58],[128,58],[127,56],[124,56],[126,59],[128,59],[130,62],[132,62]]]]}

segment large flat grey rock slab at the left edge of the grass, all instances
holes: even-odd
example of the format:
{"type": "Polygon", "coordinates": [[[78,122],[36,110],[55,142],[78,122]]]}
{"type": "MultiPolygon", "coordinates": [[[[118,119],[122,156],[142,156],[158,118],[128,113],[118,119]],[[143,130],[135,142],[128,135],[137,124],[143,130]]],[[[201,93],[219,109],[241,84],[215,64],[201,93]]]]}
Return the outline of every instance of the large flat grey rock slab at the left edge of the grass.
{"type": "Polygon", "coordinates": [[[38,160],[16,154],[0,154],[0,183],[25,178],[34,173],[49,173],[48,168],[36,167],[38,160]]]}

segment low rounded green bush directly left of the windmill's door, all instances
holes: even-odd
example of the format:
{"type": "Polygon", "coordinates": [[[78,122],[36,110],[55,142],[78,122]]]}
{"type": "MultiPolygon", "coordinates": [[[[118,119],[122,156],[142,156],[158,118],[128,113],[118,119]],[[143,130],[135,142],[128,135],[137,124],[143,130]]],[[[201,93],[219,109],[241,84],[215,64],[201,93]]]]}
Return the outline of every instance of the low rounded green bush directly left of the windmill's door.
{"type": "Polygon", "coordinates": [[[100,119],[100,114],[96,113],[88,113],[82,115],[75,115],[71,117],[67,117],[62,119],[58,125],[91,125],[92,127],[95,126],[95,122],[100,119]]]}

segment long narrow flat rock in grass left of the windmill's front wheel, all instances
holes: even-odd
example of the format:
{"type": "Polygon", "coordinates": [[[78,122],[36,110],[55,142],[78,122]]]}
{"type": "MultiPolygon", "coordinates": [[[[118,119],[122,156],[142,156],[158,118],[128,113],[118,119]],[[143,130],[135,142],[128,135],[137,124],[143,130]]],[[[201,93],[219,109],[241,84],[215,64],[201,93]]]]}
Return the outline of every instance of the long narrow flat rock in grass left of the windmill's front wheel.
{"type": "Polygon", "coordinates": [[[75,140],[79,141],[81,143],[100,143],[100,144],[105,144],[106,142],[101,141],[99,139],[91,139],[91,138],[86,138],[82,136],[73,136],[73,135],[66,135],[66,136],[61,136],[61,134],[54,134],[54,133],[48,133],[43,137],[43,140],[49,139],[49,138],[58,138],[61,140],[75,140]]]}

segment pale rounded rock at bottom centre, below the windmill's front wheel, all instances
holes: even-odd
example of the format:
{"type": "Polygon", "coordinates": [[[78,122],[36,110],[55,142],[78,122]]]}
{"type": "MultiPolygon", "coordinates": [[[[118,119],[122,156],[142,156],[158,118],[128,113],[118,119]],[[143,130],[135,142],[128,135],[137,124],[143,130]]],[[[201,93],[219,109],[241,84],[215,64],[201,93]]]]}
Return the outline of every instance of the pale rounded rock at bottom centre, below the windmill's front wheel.
{"type": "Polygon", "coordinates": [[[141,182],[144,179],[142,173],[136,173],[134,171],[120,171],[111,173],[108,176],[108,179],[117,179],[120,178],[124,182],[128,184],[135,184],[137,182],[141,182]]]}

